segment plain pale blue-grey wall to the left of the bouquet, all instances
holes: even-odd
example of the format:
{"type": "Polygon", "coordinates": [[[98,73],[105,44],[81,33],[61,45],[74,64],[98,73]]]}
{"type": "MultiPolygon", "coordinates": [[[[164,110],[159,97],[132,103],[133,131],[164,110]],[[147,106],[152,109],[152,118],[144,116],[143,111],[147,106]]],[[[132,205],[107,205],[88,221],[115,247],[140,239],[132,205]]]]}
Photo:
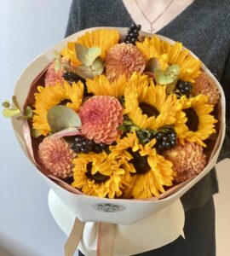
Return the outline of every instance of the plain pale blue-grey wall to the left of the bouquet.
{"type": "MultiPolygon", "coordinates": [[[[23,69],[60,41],[71,0],[0,0],[0,102],[23,69]]],[[[2,112],[2,108],[1,108],[2,112]]],[[[0,255],[62,256],[66,236],[49,213],[49,188],[0,114],[0,255]]]]}

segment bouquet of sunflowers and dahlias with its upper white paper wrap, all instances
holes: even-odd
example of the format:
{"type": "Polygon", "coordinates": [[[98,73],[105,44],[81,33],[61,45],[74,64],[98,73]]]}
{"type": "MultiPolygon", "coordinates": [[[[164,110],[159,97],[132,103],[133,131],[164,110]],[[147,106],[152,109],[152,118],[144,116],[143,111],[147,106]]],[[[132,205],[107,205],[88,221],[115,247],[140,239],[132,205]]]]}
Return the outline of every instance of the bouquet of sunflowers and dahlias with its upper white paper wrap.
{"type": "Polygon", "coordinates": [[[221,148],[215,77],[181,43],[140,30],[66,38],[27,67],[11,107],[3,103],[30,160],[82,221],[131,224],[169,206],[221,148]]]}

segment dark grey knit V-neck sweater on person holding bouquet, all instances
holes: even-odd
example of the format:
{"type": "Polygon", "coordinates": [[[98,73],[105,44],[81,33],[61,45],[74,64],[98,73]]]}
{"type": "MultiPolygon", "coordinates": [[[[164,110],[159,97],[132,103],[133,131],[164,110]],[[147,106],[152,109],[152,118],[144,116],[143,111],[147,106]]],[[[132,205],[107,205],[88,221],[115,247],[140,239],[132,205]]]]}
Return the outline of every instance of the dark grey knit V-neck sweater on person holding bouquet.
{"type": "MultiPolygon", "coordinates": [[[[66,36],[93,26],[133,23],[122,0],[73,0],[66,36]]],[[[227,136],[219,160],[230,156],[230,0],[194,0],[158,34],[191,49],[221,80],[227,98],[227,136]]],[[[203,205],[218,191],[216,171],[199,181],[181,201],[185,209],[203,205]]]]}

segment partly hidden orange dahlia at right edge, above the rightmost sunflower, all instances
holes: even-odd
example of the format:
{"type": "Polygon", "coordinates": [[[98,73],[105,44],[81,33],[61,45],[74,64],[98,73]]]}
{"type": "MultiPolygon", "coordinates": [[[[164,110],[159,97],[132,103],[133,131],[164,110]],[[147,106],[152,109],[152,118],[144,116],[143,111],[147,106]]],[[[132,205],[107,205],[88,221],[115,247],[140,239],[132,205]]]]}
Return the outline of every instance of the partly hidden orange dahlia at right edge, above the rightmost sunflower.
{"type": "Polygon", "coordinates": [[[214,80],[204,72],[199,74],[198,79],[196,79],[195,84],[193,84],[193,94],[204,94],[205,96],[210,96],[208,101],[208,104],[210,105],[216,105],[220,98],[220,93],[214,80]]]}

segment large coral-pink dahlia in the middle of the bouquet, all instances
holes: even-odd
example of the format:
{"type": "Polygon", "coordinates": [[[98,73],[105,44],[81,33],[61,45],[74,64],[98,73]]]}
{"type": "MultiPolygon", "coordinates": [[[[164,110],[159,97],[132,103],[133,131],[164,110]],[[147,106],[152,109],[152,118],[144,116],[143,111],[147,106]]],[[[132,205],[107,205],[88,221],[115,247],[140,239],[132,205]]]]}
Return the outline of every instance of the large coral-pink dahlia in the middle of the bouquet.
{"type": "Polygon", "coordinates": [[[92,96],[79,110],[81,131],[95,143],[111,144],[123,123],[123,108],[113,96],[92,96]]]}

